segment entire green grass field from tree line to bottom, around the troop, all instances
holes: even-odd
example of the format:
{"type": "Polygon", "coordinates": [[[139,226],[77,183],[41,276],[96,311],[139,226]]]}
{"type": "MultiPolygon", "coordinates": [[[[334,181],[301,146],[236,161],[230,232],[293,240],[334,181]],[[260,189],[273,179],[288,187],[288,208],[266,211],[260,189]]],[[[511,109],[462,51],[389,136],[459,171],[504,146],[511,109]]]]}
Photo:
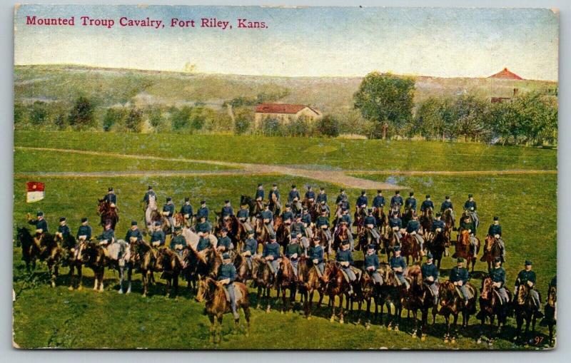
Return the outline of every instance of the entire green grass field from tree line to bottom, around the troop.
{"type": "MultiPolygon", "coordinates": [[[[450,195],[458,215],[468,193],[473,193],[480,216],[478,237],[485,236],[494,215],[500,217],[507,246],[505,269],[510,289],[525,259],[534,262],[542,300],[545,300],[548,282],[557,272],[557,150],[475,143],[29,131],[16,131],[14,143],[14,230],[16,226],[26,225],[26,213],[43,210],[51,230],[56,229],[58,218],[65,215],[75,233],[80,218],[86,216],[94,227],[94,233],[99,234],[101,227],[97,225],[97,199],[103,197],[109,186],[115,188],[118,196],[121,218],[116,227],[118,238],[123,238],[131,219],[142,223],[141,200],[147,185],[155,186],[159,203],[163,203],[166,196],[171,196],[177,210],[186,196],[191,198],[195,209],[204,198],[211,215],[213,210],[220,210],[225,199],[230,199],[233,207],[238,208],[240,195],[253,196],[258,183],[263,183],[266,191],[271,183],[278,183],[282,198],[292,183],[298,185],[300,190],[305,189],[304,185],[323,186],[329,199],[335,200],[339,190],[335,180],[317,181],[269,171],[251,175],[218,175],[217,171],[224,172],[235,167],[206,161],[290,165],[314,170],[338,170],[358,178],[400,185],[403,196],[408,195],[410,190],[415,191],[419,205],[425,194],[432,195],[438,206],[445,195],[450,195]],[[88,150],[130,157],[30,148],[88,150]],[[137,155],[165,159],[139,159],[137,155]],[[172,160],[177,158],[181,160],[172,160]],[[189,173],[208,170],[212,174],[186,177],[121,175],[122,172],[133,170],[187,170],[189,173]],[[502,170],[521,172],[489,173],[502,170]],[[65,175],[41,176],[42,172],[70,171],[108,171],[117,174],[109,173],[106,178],[90,178],[89,175],[74,178],[66,178],[65,175]],[[410,171],[443,173],[405,175],[410,171]],[[447,173],[463,171],[473,173],[447,173]],[[39,203],[25,203],[25,183],[29,180],[41,181],[46,185],[46,198],[39,203]]],[[[348,188],[347,191],[353,206],[360,190],[348,188]]],[[[390,198],[392,194],[392,191],[387,191],[385,198],[390,198]]],[[[375,190],[368,190],[370,200],[374,195],[375,190]]],[[[362,263],[361,252],[355,252],[355,260],[358,261],[357,265],[362,263]]],[[[385,261],[386,257],[383,255],[381,260],[385,261]]],[[[445,257],[441,278],[447,278],[448,271],[454,265],[451,257],[445,257]]],[[[471,275],[473,285],[480,287],[480,278],[485,275],[486,269],[484,262],[477,262],[476,271],[471,275]]],[[[84,290],[69,291],[67,271],[66,267],[62,268],[58,286],[49,287],[45,265],[39,265],[34,274],[27,274],[21,261],[21,251],[14,244],[14,342],[19,347],[535,349],[544,347],[547,342],[547,328],[540,327],[538,323],[538,344],[527,347],[513,344],[510,338],[515,322],[510,318],[505,337],[498,339],[492,347],[477,344],[479,322],[471,317],[469,329],[460,329],[460,339],[455,344],[445,344],[444,319],[440,316],[436,324],[428,328],[425,342],[421,342],[411,337],[413,323],[412,319],[406,319],[406,312],[403,312],[401,331],[394,332],[388,331],[377,321],[373,321],[370,329],[365,329],[362,324],[356,324],[354,314],[349,314],[343,325],[331,323],[330,309],[326,305],[315,307],[311,320],[305,319],[299,310],[281,314],[281,300],[274,300],[270,313],[253,310],[249,337],[232,334],[233,322],[231,316],[226,315],[223,341],[213,345],[208,343],[209,322],[203,315],[203,305],[186,291],[186,283],[182,280],[176,299],[163,296],[163,280],[158,280],[156,286],[151,287],[150,296],[143,298],[138,274],[133,275],[133,293],[118,295],[116,272],[106,271],[105,291],[99,293],[91,290],[94,280],[90,269],[84,269],[84,290]]],[[[272,296],[275,293],[273,291],[272,296]]],[[[253,307],[256,307],[255,294],[251,294],[251,300],[253,307]]],[[[325,298],[324,302],[327,301],[325,298]]]]}

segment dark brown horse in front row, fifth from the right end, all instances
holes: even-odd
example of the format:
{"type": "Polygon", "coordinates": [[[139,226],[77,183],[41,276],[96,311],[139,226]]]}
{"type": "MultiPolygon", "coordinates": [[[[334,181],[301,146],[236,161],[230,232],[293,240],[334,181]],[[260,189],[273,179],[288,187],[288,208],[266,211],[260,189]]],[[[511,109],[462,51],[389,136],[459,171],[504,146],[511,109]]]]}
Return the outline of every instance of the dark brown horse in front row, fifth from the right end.
{"type": "Polygon", "coordinates": [[[428,326],[428,310],[432,308],[433,322],[436,319],[436,307],[434,305],[433,292],[430,287],[423,281],[423,275],[420,271],[420,266],[413,265],[408,267],[405,272],[405,279],[410,283],[408,290],[400,290],[402,293],[401,301],[403,307],[408,311],[413,312],[413,319],[415,327],[413,330],[413,338],[417,337],[418,333],[418,319],[417,312],[420,310],[420,340],[426,339],[426,327],[428,326]]]}

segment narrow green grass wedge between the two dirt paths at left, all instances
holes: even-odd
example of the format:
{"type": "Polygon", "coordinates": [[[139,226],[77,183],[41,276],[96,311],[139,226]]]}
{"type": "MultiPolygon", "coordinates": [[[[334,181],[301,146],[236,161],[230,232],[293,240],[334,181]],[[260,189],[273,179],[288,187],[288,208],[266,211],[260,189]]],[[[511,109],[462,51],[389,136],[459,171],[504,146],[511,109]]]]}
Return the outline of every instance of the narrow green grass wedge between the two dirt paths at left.
{"type": "Polygon", "coordinates": [[[133,171],[133,170],[227,170],[224,165],[172,162],[131,158],[111,158],[56,151],[16,149],[14,173],[41,171],[133,171]]]}

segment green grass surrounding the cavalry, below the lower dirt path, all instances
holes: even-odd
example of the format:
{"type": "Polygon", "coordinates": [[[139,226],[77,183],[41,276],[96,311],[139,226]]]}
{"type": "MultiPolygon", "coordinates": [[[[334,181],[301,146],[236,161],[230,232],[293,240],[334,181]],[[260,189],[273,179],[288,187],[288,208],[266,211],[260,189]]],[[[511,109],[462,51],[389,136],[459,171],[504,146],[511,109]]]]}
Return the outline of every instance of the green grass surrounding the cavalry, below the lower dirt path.
{"type": "MultiPolygon", "coordinates": [[[[390,175],[365,175],[367,178],[385,180],[390,175]]],[[[18,185],[26,180],[16,179],[18,185]]],[[[46,199],[34,205],[24,203],[24,193],[16,192],[14,203],[14,222],[24,223],[26,212],[42,209],[52,228],[56,218],[66,215],[75,230],[78,220],[87,215],[96,225],[95,200],[111,183],[119,195],[121,208],[121,223],[117,235],[122,237],[126,231],[126,221],[130,218],[142,218],[139,200],[148,183],[157,185],[160,198],[172,195],[179,205],[186,195],[191,196],[193,204],[206,197],[211,209],[218,209],[227,196],[231,196],[234,205],[238,203],[238,195],[252,194],[258,182],[268,185],[278,182],[281,190],[287,190],[290,183],[303,185],[308,180],[291,178],[289,176],[260,176],[251,177],[215,177],[206,178],[141,178],[126,180],[119,178],[104,178],[102,180],[64,180],[47,179],[46,199]],[[70,198],[69,195],[73,195],[70,198]]],[[[473,192],[480,205],[482,224],[487,224],[493,214],[502,217],[502,226],[507,241],[508,283],[511,286],[514,275],[519,270],[521,260],[530,257],[535,262],[538,273],[540,290],[545,294],[547,281],[555,274],[555,213],[545,213],[556,205],[556,176],[555,175],[521,175],[518,177],[502,176],[496,178],[404,178],[400,182],[411,185],[418,195],[431,193],[435,200],[440,200],[443,193],[450,193],[458,205],[466,193],[473,192]],[[514,185],[517,183],[517,188],[514,185]],[[540,188],[537,188],[540,185],[540,188]],[[517,203],[514,202],[517,200],[517,203]],[[526,215],[521,220],[521,215],[526,215]],[[542,237],[545,235],[545,237],[542,237]]],[[[331,196],[336,190],[333,185],[325,185],[331,196]]],[[[348,190],[350,200],[354,201],[358,190],[348,190]]],[[[420,197],[419,197],[420,198],[420,197]]],[[[96,232],[98,228],[95,228],[96,232]]],[[[362,260],[360,253],[357,260],[362,260]]],[[[15,342],[21,347],[149,347],[149,348],[213,348],[208,344],[208,319],[201,315],[202,306],[183,295],[178,300],[164,300],[158,296],[162,293],[159,283],[156,294],[148,299],[136,293],[129,296],[117,295],[115,291],[97,294],[91,290],[69,292],[65,287],[55,290],[41,284],[45,275],[26,278],[22,273],[20,252],[14,253],[14,332],[15,342]],[[33,307],[33,308],[31,308],[33,307]],[[165,339],[168,337],[168,339],[165,339]]],[[[443,262],[446,269],[453,266],[451,259],[443,262]]],[[[478,263],[477,270],[485,270],[478,263]]],[[[66,269],[63,271],[66,272],[66,269]]],[[[91,270],[86,272],[86,287],[91,287],[91,270]]],[[[107,272],[109,279],[116,281],[116,274],[107,272]]],[[[138,279],[138,275],[135,277],[138,279]]],[[[478,280],[473,280],[478,284],[478,280]]],[[[66,282],[65,277],[61,282],[66,282]]],[[[106,282],[107,288],[113,287],[106,282]]],[[[253,298],[253,300],[255,300],[253,298]]],[[[477,325],[474,324],[467,332],[469,337],[461,338],[455,346],[445,346],[439,338],[442,336],[442,322],[430,329],[428,340],[421,343],[418,339],[410,339],[408,323],[403,324],[405,332],[387,332],[374,325],[370,331],[354,324],[330,324],[328,310],[321,307],[315,319],[307,321],[297,314],[280,315],[272,312],[269,315],[256,310],[253,315],[253,329],[250,337],[243,335],[228,335],[231,329],[231,319],[226,316],[224,334],[220,348],[380,348],[392,349],[445,349],[457,347],[463,349],[485,349],[487,346],[477,345],[474,334],[477,325]],[[305,332],[317,331],[315,334],[305,332]],[[298,332],[302,339],[291,339],[291,333],[298,332]],[[311,337],[310,339],[307,339],[311,337]],[[295,343],[293,343],[295,341],[295,343]]],[[[513,326],[514,322],[510,322],[513,326]]],[[[542,334],[545,329],[538,327],[542,334]]],[[[511,334],[508,332],[508,334],[511,334]]],[[[507,340],[501,339],[496,348],[516,349],[507,340]]]]}

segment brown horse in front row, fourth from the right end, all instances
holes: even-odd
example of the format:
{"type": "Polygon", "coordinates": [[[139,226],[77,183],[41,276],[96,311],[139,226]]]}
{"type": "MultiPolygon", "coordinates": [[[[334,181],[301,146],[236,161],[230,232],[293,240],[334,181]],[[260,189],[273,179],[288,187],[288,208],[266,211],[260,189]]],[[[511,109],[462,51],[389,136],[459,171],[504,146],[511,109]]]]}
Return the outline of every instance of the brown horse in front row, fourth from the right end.
{"type": "Polygon", "coordinates": [[[457,291],[455,285],[450,282],[450,280],[444,281],[440,283],[440,287],[438,288],[438,296],[440,299],[440,315],[443,315],[446,321],[446,334],[444,336],[445,343],[452,343],[456,342],[456,334],[458,333],[458,315],[462,312],[462,327],[468,327],[468,320],[470,320],[470,315],[474,314],[476,311],[476,289],[471,285],[469,282],[466,284],[468,291],[472,295],[468,300],[468,305],[464,304],[463,297],[460,296],[460,293],[457,291]],[[454,322],[454,334],[450,334],[450,315],[453,316],[454,322]]]}

